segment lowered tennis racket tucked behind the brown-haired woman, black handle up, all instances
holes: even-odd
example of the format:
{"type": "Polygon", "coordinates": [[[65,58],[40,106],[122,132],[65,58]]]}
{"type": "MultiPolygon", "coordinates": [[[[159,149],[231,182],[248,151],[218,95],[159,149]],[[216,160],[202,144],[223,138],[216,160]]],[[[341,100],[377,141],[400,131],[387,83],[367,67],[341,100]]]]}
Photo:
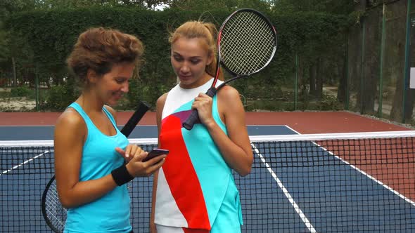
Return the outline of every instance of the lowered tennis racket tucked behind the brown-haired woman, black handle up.
{"type": "MultiPolygon", "coordinates": [[[[121,129],[121,133],[128,137],[148,109],[150,109],[150,106],[146,102],[140,102],[139,107],[137,107],[134,114],[127,121],[127,124],[121,129]]],[[[55,175],[49,180],[41,197],[41,213],[46,224],[53,232],[63,232],[67,211],[60,204],[58,190],[56,189],[55,175]]]]}

